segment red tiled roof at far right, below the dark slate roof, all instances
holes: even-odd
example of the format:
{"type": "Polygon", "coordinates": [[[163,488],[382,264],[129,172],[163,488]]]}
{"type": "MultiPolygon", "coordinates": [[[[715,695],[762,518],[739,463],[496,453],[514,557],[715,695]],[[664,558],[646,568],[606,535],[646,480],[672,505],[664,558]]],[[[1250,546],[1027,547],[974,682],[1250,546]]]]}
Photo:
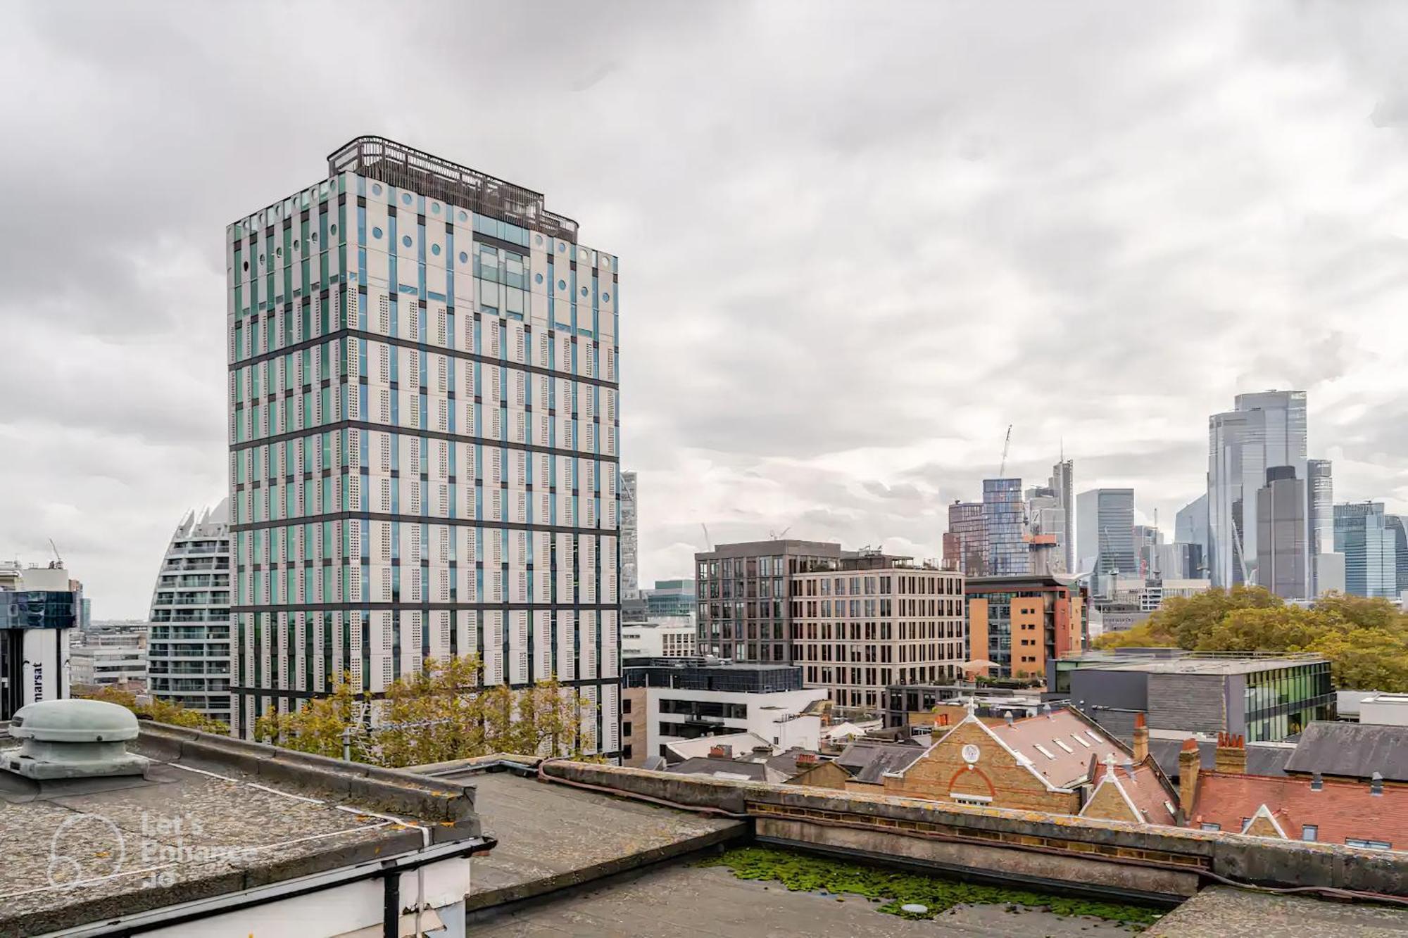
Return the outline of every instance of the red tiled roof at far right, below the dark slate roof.
{"type": "Polygon", "coordinates": [[[1198,794],[1188,827],[1218,824],[1240,832],[1243,818],[1266,806],[1286,835],[1302,839],[1307,824],[1318,828],[1315,839],[1343,844],[1349,838],[1383,841],[1393,849],[1408,849],[1408,787],[1384,786],[1370,794],[1367,782],[1325,780],[1322,790],[1311,779],[1209,772],[1198,773],[1198,794]]]}

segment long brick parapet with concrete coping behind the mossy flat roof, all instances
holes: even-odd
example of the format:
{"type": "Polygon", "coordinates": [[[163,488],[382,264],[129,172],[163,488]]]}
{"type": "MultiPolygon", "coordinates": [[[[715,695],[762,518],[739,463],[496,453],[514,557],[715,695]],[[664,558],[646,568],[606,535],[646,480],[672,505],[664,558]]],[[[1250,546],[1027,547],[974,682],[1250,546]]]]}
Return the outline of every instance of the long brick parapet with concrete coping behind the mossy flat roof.
{"type": "MultiPolygon", "coordinates": [[[[897,799],[831,789],[727,782],[583,762],[545,762],[548,777],[604,786],[631,796],[690,807],[717,807],[779,821],[805,821],[819,831],[848,823],[880,827],[895,838],[1079,856],[1087,863],[1187,870],[1274,887],[1314,886],[1391,896],[1408,894],[1408,853],[1336,844],[1278,841],[1177,827],[1093,821],[1064,814],[1010,811],[897,799]]],[[[819,837],[819,834],[818,834],[819,837]]],[[[903,839],[893,853],[903,853],[903,839]]],[[[1071,880],[1076,882],[1076,880],[1071,880]]],[[[1186,896],[1183,879],[1169,880],[1186,896]]]]}

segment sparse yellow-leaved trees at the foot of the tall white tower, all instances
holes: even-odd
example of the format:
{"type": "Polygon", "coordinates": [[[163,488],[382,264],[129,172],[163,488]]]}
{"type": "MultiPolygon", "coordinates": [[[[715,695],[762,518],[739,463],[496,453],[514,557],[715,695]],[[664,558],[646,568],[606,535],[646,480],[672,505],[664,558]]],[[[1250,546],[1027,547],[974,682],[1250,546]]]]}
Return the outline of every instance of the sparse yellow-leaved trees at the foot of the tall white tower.
{"type": "Polygon", "coordinates": [[[590,701],[556,679],[531,687],[484,686],[477,656],[428,659],[380,699],[344,675],[327,697],[294,713],[260,717],[255,735],[290,749],[383,766],[427,765],[494,752],[582,755],[593,745],[583,724],[590,701]]]}

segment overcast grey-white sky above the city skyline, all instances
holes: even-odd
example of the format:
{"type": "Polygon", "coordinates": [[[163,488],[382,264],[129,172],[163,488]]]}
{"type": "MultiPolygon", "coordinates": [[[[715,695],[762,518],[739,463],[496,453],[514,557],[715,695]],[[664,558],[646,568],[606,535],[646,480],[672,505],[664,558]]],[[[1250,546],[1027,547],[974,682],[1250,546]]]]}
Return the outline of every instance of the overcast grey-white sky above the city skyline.
{"type": "Polygon", "coordinates": [[[1269,387],[1408,508],[1408,4],[0,11],[0,556],[97,618],[225,493],[227,223],[358,134],[621,255],[642,583],[701,523],[936,556],[1008,424],[1171,531],[1269,387]]]}

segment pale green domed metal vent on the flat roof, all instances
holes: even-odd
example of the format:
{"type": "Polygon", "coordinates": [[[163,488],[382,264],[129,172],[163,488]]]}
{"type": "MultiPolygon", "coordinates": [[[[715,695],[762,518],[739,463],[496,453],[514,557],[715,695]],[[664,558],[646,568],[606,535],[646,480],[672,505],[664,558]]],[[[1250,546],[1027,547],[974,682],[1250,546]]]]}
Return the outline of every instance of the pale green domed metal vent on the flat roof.
{"type": "Polygon", "coordinates": [[[3,768],[27,779],[90,779],[142,775],[146,759],[127,751],[137,717],[103,700],[41,700],[20,707],[10,735],[23,739],[4,752],[3,768]]]}

